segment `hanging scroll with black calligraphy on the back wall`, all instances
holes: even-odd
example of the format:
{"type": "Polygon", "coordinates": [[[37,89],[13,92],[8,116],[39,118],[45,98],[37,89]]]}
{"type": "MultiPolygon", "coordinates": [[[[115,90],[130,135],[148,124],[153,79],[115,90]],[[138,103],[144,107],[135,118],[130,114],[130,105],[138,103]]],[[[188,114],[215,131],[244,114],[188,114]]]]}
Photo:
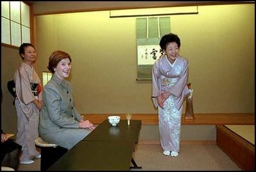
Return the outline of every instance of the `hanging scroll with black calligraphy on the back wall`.
{"type": "Polygon", "coordinates": [[[136,18],[138,80],[152,79],[152,65],[163,55],[159,41],[169,32],[170,17],[136,18]]]}

